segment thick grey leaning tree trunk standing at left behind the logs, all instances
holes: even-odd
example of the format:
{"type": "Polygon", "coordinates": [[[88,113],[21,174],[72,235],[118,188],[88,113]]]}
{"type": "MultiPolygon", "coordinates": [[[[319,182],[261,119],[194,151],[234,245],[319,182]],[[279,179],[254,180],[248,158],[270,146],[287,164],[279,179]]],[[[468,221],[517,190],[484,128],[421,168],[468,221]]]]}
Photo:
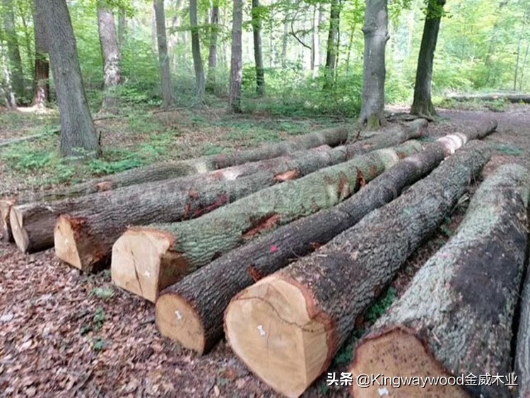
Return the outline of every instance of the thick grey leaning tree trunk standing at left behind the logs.
{"type": "Polygon", "coordinates": [[[86,100],[76,38],[66,0],[37,0],[42,13],[52,62],[57,103],[61,116],[61,153],[64,156],[98,157],[98,136],[86,100]]]}

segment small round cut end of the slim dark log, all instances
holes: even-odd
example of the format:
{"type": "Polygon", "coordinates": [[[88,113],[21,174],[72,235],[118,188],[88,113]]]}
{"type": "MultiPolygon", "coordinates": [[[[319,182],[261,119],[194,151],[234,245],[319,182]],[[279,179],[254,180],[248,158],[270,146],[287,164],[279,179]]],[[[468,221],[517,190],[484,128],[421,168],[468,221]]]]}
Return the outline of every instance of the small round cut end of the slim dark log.
{"type": "Polygon", "coordinates": [[[201,318],[177,294],[163,294],[156,300],[155,322],[160,334],[202,355],[206,336],[201,318]]]}

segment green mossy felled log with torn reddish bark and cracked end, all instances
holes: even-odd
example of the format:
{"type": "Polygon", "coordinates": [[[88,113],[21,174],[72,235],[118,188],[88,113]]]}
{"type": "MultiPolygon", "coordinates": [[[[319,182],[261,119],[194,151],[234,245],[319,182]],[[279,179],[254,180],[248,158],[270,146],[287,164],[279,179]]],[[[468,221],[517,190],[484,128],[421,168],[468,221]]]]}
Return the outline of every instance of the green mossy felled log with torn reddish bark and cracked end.
{"type": "Polygon", "coordinates": [[[192,221],[129,228],[112,247],[112,281],[154,303],[158,292],[183,276],[276,226],[338,204],[421,149],[407,141],[263,189],[192,221]]]}

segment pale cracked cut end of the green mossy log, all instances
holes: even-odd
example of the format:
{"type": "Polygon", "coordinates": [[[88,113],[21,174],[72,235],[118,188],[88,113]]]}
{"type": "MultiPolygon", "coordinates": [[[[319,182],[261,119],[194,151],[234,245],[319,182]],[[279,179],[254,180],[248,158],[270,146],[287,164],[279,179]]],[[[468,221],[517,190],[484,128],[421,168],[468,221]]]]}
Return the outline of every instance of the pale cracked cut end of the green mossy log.
{"type": "Polygon", "coordinates": [[[189,264],[172,246],[172,238],[163,232],[128,230],[112,247],[112,281],[155,303],[163,288],[188,273],[189,264]]]}

